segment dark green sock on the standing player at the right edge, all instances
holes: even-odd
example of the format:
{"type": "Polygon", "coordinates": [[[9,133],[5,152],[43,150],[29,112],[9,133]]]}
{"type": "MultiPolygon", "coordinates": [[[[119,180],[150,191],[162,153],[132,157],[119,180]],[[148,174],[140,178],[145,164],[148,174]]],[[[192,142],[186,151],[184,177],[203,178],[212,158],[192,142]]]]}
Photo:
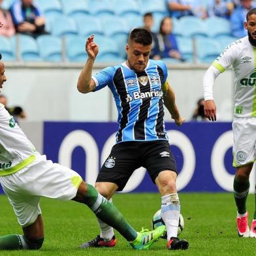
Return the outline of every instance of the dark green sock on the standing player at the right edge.
{"type": "Polygon", "coordinates": [[[246,199],[249,192],[249,180],[246,182],[238,181],[234,176],[234,200],[236,201],[238,214],[246,213],[246,199]]]}

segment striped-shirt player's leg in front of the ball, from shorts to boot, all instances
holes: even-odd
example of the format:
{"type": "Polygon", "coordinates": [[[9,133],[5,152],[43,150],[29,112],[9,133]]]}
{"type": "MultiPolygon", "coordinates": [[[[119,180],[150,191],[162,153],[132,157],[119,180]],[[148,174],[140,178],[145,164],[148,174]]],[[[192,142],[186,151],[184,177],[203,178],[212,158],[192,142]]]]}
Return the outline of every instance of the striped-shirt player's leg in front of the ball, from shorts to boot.
{"type": "Polygon", "coordinates": [[[161,214],[167,228],[167,248],[187,249],[188,242],[178,239],[180,199],[176,189],[176,163],[167,141],[146,146],[144,167],[161,194],[161,214]]]}

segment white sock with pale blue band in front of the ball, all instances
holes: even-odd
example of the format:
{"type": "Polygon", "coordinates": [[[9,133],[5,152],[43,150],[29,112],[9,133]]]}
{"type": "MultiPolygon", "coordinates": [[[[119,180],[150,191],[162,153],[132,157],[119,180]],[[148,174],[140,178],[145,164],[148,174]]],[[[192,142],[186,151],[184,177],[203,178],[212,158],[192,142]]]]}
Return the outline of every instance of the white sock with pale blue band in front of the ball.
{"type": "Polygon", "coordinates": [[[177,237],[180,219],[180,200],[178,193],[164,195],[161,197],[161,214],[167,227],[167,241],[172,236],[177,237]]]}

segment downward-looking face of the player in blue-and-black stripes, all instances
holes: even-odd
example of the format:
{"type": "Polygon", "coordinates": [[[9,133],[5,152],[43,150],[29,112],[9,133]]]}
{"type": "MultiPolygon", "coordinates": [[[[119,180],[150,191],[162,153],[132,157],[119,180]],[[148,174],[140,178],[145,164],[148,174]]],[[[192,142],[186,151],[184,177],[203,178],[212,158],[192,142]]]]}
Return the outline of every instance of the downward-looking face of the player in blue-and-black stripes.
{"type": "Polygon", "coordinates": [[[142,45],[138,42],[129,42],[126,46],[127,61],[130,69],[136,72],[142,72],[148,65],[152,44],[142,45]]]}

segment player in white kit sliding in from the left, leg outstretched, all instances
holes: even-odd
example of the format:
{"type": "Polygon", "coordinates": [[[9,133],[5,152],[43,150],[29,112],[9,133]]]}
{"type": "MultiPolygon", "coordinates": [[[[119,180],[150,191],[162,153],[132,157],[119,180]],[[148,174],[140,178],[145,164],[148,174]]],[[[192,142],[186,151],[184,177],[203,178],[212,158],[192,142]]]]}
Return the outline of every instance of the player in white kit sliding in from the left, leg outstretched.
{"type": "MultiPolygon", "coordinates": [[[[1,57],[0,57],[1,59],[1,57]]],[[[7,80],[0,61],[0,89],[7,80]]],[[[165,227],[136,232],[116,207],[86,184],[79,174],[46,160],[0,104],[0,183],[14,209],[24,235],[0,236],[2,249],[40,249],[44,241],[40,197],[84,203],[102,221],[117,229],[134,249],[149,249],[165,227]]]]}

